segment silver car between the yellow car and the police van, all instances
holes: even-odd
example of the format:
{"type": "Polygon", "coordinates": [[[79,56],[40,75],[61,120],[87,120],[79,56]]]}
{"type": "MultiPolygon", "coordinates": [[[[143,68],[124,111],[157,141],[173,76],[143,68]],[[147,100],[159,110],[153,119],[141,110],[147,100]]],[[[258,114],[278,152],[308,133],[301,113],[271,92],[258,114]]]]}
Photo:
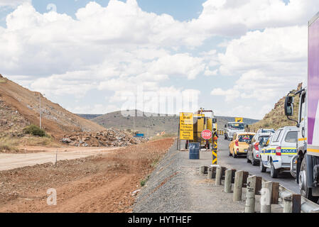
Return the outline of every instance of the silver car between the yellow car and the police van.
{"type": "Polygon", "coordinates": [[[252,142],[249,143],[247,162],[251,162],[252,165],[259,165],[261,149],[271,135],[272,133],[257,133],[254,135],[252,142]]]}

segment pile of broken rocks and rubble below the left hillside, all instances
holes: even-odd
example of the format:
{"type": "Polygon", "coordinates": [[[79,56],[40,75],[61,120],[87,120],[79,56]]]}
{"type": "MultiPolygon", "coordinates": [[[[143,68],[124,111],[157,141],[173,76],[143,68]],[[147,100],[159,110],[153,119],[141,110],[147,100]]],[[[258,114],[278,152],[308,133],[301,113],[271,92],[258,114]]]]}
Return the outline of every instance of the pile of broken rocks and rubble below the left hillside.
{"type": "Polygon", "coordinates": [[[109,128],[97,133],[82,132],[64,135],[62,143],[79,147],[124,147],[145,142],[146,138],[134,137],[126,131],[109,128]]]}

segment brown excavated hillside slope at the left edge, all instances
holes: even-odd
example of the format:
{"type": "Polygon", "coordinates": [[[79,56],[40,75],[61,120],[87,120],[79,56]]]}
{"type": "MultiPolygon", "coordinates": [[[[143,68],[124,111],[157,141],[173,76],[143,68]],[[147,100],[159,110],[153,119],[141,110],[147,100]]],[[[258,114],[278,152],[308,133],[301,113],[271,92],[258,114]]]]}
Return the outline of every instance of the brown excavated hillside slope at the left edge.
{"type": "Polygon", "coordinates": [[[0,135],[21,135],[24,126],[39,125],[39,98],[42,127],[55,138],[70,132],[104,130],[97,123],[70,113],[42,94],[21,87],[0,74],[0,135]]]}

